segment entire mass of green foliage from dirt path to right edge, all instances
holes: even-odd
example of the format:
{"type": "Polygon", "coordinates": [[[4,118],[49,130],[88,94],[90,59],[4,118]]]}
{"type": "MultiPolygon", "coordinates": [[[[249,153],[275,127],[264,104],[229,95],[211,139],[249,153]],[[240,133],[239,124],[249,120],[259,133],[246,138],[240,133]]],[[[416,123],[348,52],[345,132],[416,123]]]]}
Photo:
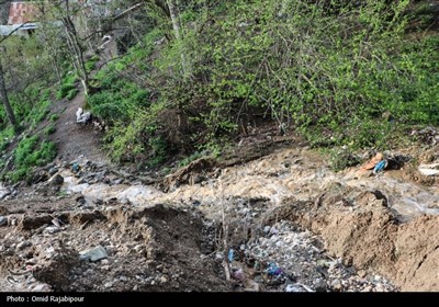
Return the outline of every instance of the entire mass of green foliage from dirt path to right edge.
{"type": "Polygon", "coordinates": [[[389,2],[187,1],[180,41],[148,11],[156,26],[97,75],[88,101],[108,150],[151,164],[177,150],[219,155],[261,120],[314,146],[386,149],[403,125],[438,125],[439,35],[413,41],[410,1],[389,2]]]}

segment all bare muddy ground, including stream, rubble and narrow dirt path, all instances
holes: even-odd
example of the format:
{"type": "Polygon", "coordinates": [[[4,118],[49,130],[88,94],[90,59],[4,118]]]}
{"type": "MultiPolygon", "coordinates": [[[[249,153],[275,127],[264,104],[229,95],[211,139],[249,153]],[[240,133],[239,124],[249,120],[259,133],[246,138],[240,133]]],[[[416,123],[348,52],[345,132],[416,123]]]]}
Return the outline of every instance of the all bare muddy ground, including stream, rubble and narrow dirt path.
{"type": "Polygon", "coordinates": [[[109,163],[81,103],[35,183],[0,189],[2,291],[439,291],[436,130],[378,174],[267,128],[159,177],[109,163]]]}

